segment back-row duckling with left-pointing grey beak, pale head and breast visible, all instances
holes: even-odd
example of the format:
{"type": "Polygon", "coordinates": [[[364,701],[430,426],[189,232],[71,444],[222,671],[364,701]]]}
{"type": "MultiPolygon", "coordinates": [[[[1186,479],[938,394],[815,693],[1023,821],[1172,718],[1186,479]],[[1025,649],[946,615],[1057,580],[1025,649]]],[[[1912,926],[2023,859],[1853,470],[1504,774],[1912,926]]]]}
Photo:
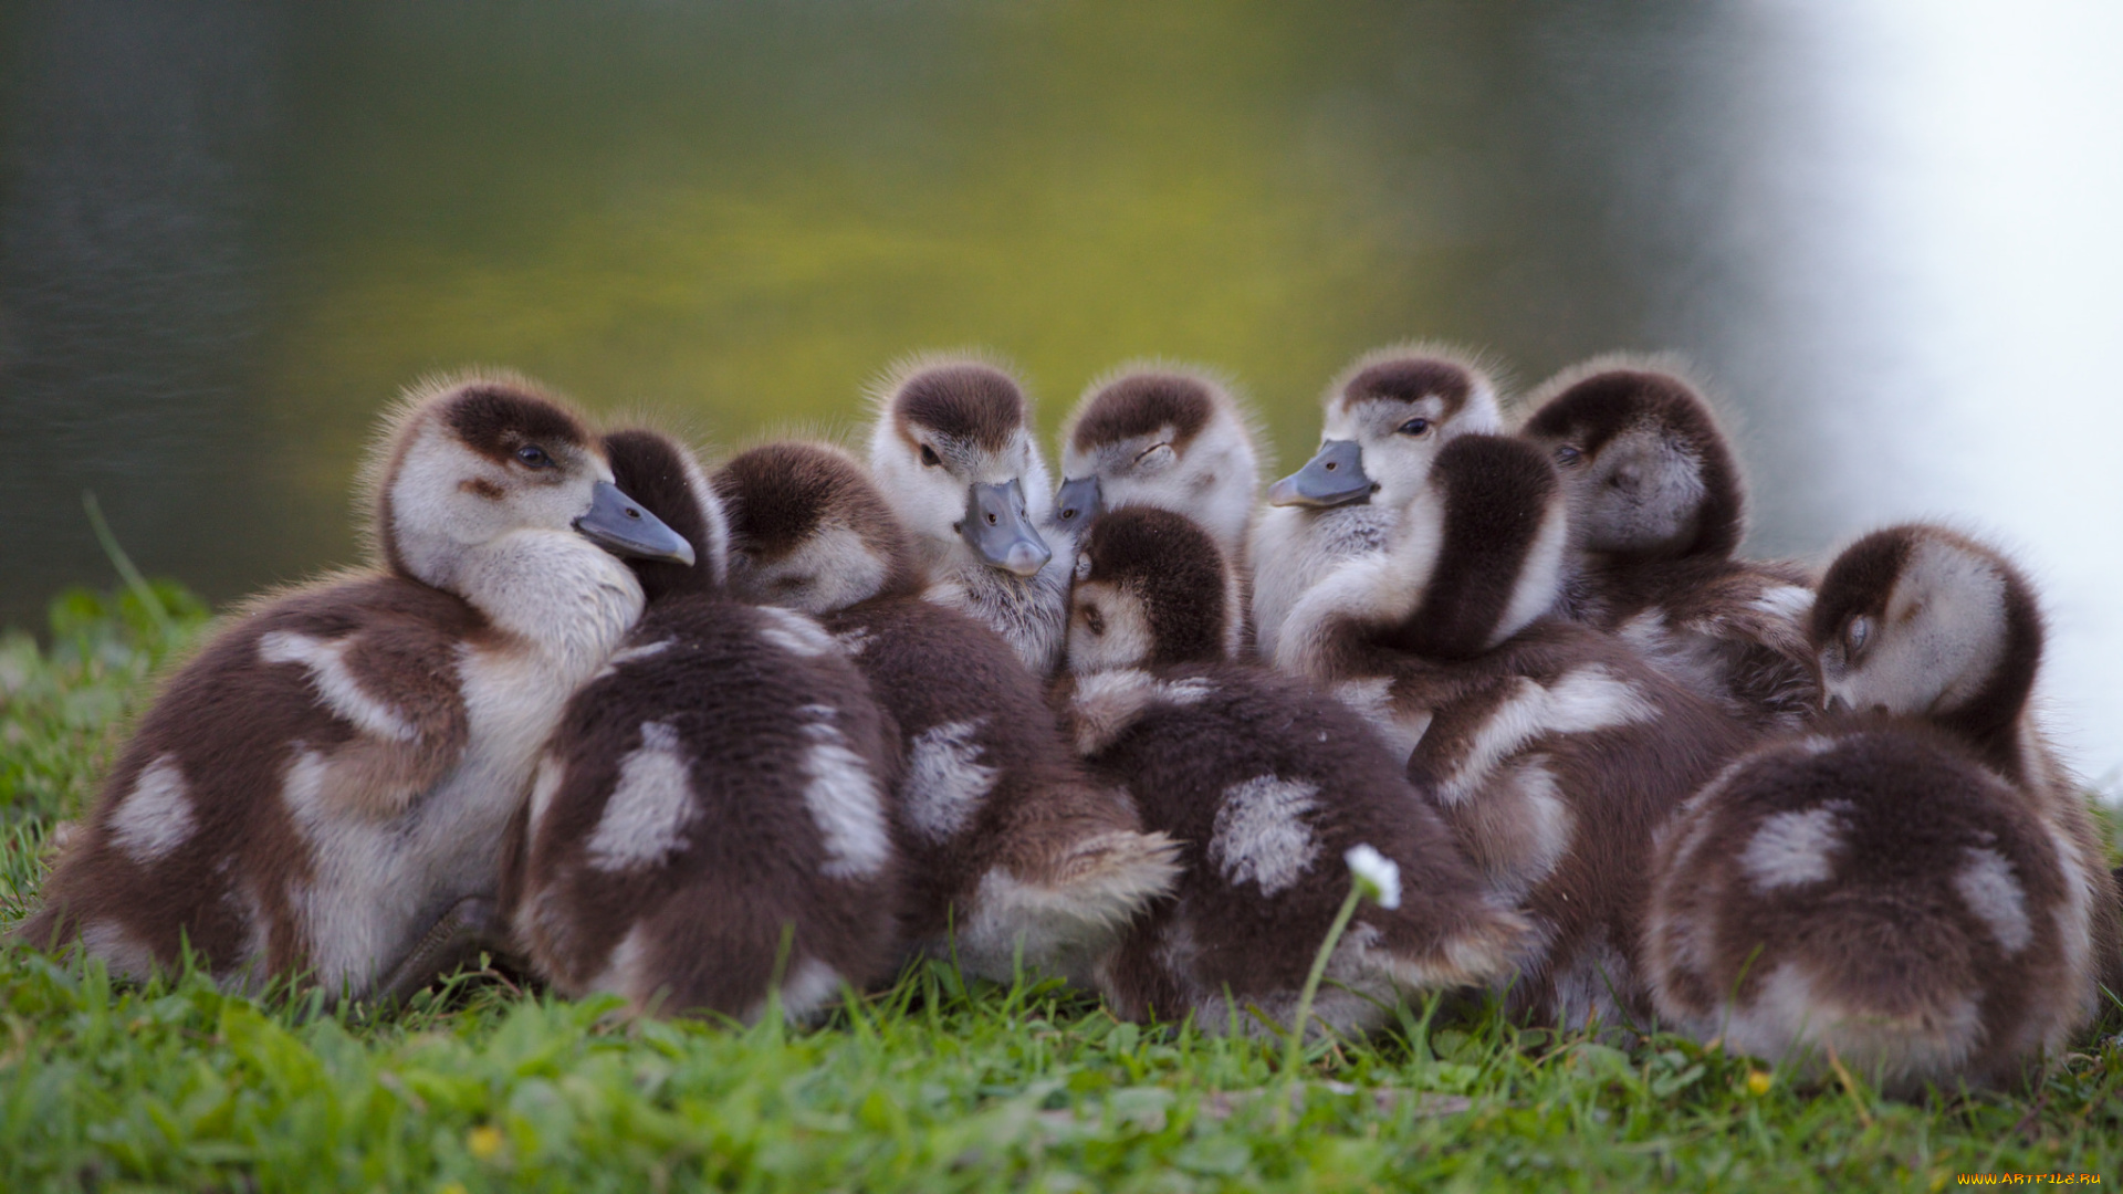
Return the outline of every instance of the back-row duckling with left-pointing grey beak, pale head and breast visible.
{"type": "Polygon", "coordinates": [[[1499,431],[1497,385],[1429,344],[1365,353],[1323,397],[1321,450],[1267,489],[1253,529],[1253,633],[1276,656],[1282,620],[1342,561],[1384,546],[1395,514],[1452,438],[1499,431]]]}

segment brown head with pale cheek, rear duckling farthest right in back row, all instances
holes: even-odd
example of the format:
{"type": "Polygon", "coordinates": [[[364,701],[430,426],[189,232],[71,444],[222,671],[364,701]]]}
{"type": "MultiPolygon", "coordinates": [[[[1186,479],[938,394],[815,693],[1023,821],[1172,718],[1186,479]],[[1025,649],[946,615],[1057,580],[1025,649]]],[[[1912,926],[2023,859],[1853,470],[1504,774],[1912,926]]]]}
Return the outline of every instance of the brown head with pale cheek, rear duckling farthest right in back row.
{"type": "Polygon", "coordinates": [[[1599,357],[1535,391],[1520,436],[1563,472],[1582,550],[1660,559],[1739,548],[1739,465],[1709,404],[1664,365],[1599,357]]]}

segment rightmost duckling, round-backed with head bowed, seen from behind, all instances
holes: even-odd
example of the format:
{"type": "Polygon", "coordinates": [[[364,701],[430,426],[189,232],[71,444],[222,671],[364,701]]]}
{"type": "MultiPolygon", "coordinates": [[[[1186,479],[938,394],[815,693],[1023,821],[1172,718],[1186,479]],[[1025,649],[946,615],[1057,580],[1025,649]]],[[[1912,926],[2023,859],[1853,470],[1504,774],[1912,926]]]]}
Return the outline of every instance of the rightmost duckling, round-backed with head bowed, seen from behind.
{"type": "Polygon", "coordinates": [[[1669,831],[1647,952],[1684,1030],[1887,1090],[2002,1084],[2117,982],[2117,892],[2032,724],[2042,620],[1993,548],[1875,531],[1811,616],[1834,716],[1751,750],[1669,831]]]}

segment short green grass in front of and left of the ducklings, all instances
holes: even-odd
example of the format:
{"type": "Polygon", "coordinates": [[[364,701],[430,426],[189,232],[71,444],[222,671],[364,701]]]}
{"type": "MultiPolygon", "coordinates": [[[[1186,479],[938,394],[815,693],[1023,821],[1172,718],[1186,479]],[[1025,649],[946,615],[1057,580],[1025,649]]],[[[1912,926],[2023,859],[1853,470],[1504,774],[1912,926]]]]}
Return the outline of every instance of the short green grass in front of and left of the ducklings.
{"type": "MultiPolygon", "coordinates": [[[[70,593],[0,639],[0,918],[204,610],[70,593]]],[[[2112,1033],[2112,1024],[2108,1033],[2112,1033]]],[[[1403,1009],[1310,1050],[1117,1024],[940,965],[815,1030],[626,1022],[459,975],[323,1011],[0,952],[0,1190],[1433,1190],[1955,1183],[2123,1173],[2123,1045],[2025,1092],[1887,1103],[1671,1037],[1611,1047],[1403,1009]]]]}

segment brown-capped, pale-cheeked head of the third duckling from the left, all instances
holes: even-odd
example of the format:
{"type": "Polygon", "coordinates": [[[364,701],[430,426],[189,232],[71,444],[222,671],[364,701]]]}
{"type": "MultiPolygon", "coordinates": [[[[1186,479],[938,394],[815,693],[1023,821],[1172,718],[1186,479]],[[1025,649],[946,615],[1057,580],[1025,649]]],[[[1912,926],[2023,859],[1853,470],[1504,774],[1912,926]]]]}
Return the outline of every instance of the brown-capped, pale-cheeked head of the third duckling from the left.
{"type": "Polygon", "coordinates": [[[841,448],[749,448],[715,470],[715,491],[730,512],[730,591],[745,601],[826,616],[917,584],[907,531],[841,448]]]}

